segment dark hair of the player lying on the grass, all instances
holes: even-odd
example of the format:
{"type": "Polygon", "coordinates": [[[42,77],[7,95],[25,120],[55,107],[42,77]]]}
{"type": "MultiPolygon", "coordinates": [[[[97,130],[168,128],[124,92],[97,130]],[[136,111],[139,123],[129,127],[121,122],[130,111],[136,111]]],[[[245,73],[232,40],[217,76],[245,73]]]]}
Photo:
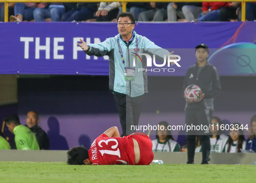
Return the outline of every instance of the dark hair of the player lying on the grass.
{"type": "Polygon", "coordinates": [[[67,164],[71,164],[71,165],[84,165],[84,160],[89,158],[87,148],[84,148],[82,146],[77,146],[69,149],[67,152],[67,155],[68,155],[67,164]]]}

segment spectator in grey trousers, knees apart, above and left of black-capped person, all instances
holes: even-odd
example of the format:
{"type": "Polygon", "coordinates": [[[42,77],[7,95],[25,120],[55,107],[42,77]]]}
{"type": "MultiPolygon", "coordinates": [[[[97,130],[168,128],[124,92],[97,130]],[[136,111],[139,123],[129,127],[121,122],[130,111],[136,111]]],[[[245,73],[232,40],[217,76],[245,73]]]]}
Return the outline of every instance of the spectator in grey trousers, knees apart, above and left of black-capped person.
{"type": "Polygon", "coordinates": [[[169,3],[167,7],[168,21],[177,22],[177,17],[186,19],[187,22],[197,18],[201,11],[202,3],[169,3]],[[184,10],[183,7],[185,6],[184,10]]]}

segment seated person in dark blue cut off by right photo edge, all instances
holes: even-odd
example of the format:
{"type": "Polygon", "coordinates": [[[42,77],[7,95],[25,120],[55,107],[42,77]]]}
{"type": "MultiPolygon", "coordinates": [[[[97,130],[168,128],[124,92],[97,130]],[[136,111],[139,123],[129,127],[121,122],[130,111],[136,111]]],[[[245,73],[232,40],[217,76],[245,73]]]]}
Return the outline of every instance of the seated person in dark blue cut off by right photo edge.
{"type": "Polygon", "coordinates": [[[251,118],[250,137],[246,140],[246,150],[256,152],[256,115],[251,118]]]}

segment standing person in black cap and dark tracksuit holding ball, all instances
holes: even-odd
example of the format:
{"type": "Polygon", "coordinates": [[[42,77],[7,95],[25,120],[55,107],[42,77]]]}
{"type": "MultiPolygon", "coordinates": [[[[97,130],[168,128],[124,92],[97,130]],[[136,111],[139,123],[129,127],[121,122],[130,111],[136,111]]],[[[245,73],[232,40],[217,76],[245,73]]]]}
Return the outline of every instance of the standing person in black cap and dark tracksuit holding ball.
{"type": "MultiPolygon", "coordinates": [[[[184,78],[183,92],[190,85],[196,85],[201,88],[201,94],[196,101],[186,100],[185,123],[186,125],[207,125],[211,124],[211,118],[214,110],[214,96],[220,93],[220,78],[217,69],[207,62],[209,48],[206,44],[200,44],[195,47],[195,55],[198,61],[191,67],[184,78]]],[[[200,129],[188,131],[188,161],[187,164],[194,164],[194,152],[196,135],[199,135],[202,146],[202,163],[208,164],[211,151],[209,131],[200,129]]]]}

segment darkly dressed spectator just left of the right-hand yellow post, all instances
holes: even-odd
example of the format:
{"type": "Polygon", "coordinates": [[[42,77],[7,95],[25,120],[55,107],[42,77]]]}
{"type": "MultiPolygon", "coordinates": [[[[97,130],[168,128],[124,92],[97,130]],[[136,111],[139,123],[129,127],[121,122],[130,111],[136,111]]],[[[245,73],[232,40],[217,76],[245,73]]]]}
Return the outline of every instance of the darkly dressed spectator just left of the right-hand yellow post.
{"type": "Polygon", "coordinates": [[[220,9],[220,21],[228,22],[231,19],[238,19],[238,9],[240,2],[231,2],[230,6],[225,6],[220,9]]]}

